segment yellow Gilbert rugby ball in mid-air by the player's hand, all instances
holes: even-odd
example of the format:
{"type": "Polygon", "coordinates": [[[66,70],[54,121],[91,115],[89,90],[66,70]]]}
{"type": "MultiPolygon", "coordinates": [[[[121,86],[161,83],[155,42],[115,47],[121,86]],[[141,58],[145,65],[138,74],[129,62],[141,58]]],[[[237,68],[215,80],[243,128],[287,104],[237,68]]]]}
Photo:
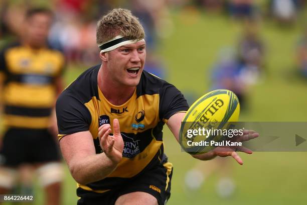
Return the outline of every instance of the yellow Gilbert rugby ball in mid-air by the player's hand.
{"type": "Polygon", "coordinates": [[[229,129],[233,126],[232,122],[238,121],[239,114],[239,99],[232,91],[218,89],[203,95],[189,108],[181,124],[179,137],[182,149],[190,154],[212,150],[214,146],[205,144],[206,141],[218,142],[225,139],[225,136],[213,131],[229,129]],[[212,132],[207,132],[207,135],[198,132],[204,130],[212,132]]]}

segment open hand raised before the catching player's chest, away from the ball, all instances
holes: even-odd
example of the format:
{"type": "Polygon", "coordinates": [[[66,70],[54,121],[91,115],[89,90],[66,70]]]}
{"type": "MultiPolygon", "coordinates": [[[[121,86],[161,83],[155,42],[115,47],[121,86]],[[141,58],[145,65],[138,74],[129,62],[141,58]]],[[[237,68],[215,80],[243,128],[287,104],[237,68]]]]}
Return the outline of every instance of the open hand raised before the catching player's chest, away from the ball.
{"type": "Polygon", "coordinates": [[[111,132],[110,124],[104,124],[98,128],[100,147],[112,162],[118,164],[122,158],[124,144],[117,119],[113,120],[113,136],[110,135],[111,132]]]}

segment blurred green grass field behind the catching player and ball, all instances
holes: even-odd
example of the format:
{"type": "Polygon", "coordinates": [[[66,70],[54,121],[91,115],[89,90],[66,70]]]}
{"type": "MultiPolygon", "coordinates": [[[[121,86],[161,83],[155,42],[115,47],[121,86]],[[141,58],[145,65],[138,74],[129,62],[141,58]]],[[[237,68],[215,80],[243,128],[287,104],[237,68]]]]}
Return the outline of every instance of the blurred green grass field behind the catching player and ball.
{"type": "MultiPolygon", "coordinates": [[[[174,30],[159,45],[168,72],[168,81],[184,93],[201,96],[209,89],[211,67],[219,49],[234,45],[241,31],[240,23],[216,15],[178,12],[172,15],[174,30]]],[[[267,74],[250,90],[249,111],[241,121],[306,121],[307,81],[294,73],[294,44],[300,29],[282,30],[266,22],[261,25],[266,42],[267,74]]],[[[69,69],[67,83],[81,72],[69,69]]],[[[197,160],[181,152],[179,144],[166,128],[165,150],[174,164],[172,196],[168,204],[305,204],[307,201],[307,152],[255,152],[241,154],[244,165],[234,160],[233,176],[237,189],[231,198],[221,199],[215,192],[216,175],[201,189],[188,192],[184,186],[186,171],[197,160]]],[[[302,136],[302,137],[307,137],[302,136]]],[[[203,162],[205,165],[210,163],[203,162]]],[[[220,169],[223,169],[221,167],[220,169]]],[[[76,184],[69,172],[63,190],[64,204],[76,204],[76,184]]],[[[37,193],[42,204],[42,194],[37,193]]]]}

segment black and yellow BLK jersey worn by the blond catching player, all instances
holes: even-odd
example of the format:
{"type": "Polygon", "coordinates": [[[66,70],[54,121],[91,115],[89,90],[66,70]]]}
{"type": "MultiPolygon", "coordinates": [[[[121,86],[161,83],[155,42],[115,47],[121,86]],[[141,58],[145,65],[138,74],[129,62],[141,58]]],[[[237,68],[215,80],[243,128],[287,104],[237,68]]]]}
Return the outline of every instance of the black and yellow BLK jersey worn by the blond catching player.
{"type": "MultiPolygon", "coordinates": [[[[112,105],[97,84],[100,65],[81,74],[60,95],[56,104],[59,140],[69,134],[90,131],[96,153],[101,153],[98,127],[117,118],[124,141],[122,160],[105,179],[79,188],[102,193],[132,177],[164,164],[162,129],[168,119],[189,109],[183,94],[172,84],[143,71],[133,95],[123,105],[112,105]]],[[[171,163],[169,163],[171,164],[171,163]]]]}

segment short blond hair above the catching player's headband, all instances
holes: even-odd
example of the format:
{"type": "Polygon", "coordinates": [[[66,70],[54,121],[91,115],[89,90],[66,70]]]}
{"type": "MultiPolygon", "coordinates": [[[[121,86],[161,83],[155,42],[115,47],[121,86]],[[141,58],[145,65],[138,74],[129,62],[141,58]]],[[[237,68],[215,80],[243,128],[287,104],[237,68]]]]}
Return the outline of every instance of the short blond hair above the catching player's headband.
{"type": "Polygon", "coordinates": [[[96,42],[98,45],[118,35],[131,40],[141,40],[145,36],[138,18],[127,9],[113,9],[102,16],[97,23],[96,42]]]}

